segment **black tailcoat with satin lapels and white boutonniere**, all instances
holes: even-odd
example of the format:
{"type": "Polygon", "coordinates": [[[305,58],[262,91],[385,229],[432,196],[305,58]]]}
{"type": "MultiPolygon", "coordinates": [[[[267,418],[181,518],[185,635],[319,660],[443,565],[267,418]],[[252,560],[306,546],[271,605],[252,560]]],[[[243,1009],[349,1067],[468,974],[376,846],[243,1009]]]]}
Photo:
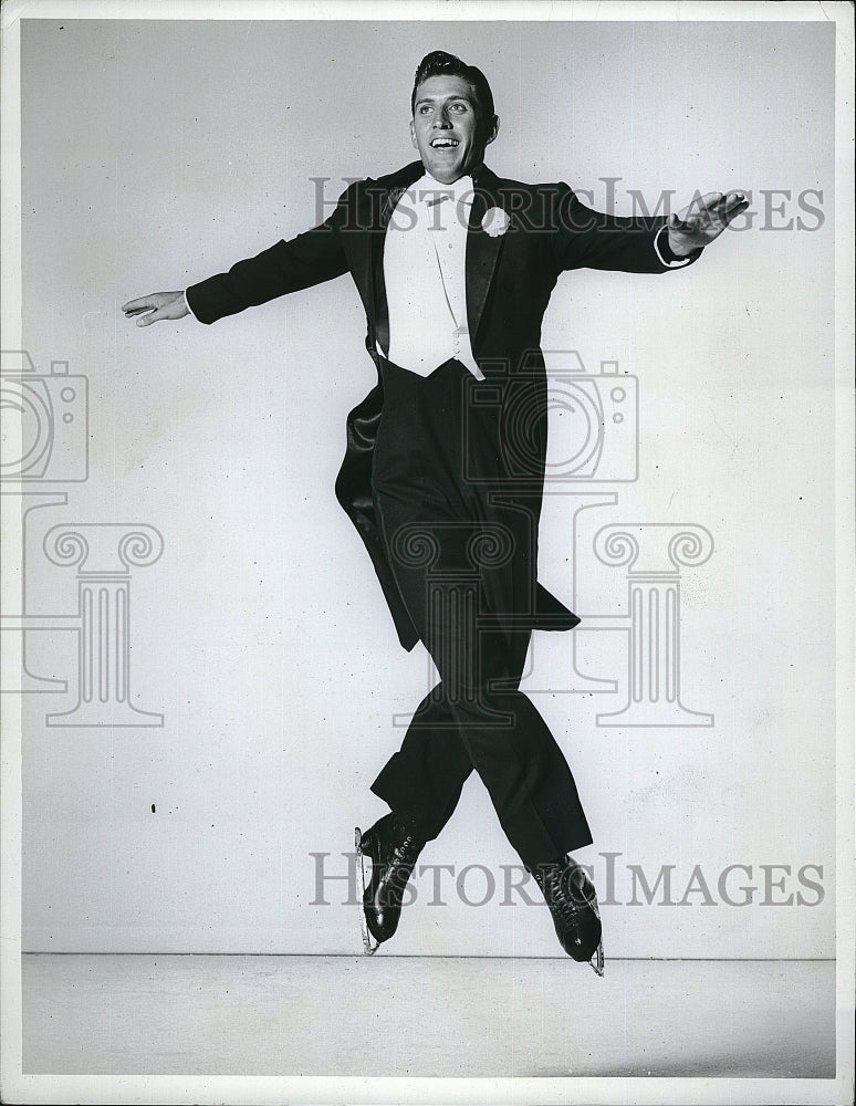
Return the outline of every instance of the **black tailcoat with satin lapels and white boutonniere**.
{"type": "MultiPolygon", "coordinates": [[[[424,173],[422,164],[414,161],[389,176],[351,185],[320,226],[239,261],[228,273],[191,285],[187,290],[190,309],[200,322],[212,323],[349,272],[366,312],[366,348],[377,364],[378,342],[388,348],[383,278],[386,228],[403,191],[424,173]]],[[[586,208],[563,182],[528,185],[505,180],[484,166],[473,175],[473,184],[466,262],[470,341],[486,377],[501,382],[503,395],[509,397],[507,405],[519,411],[523,392],[523,401],[539,413],[535,422],[541,429],[531,438],[523,470],[513,480],[516,493],[536,518],[546,455],[541,323],[559,274],[582,268],[667,271],[654,249],[654,238],[665,219],[607,216],[586,208]],[[491,208],[505,212],[504,233],[491,234],[483,229],[482,221],[491,208]]],[[[377,386],[348,416],[336,495],[372,556],[401,645],[410,649],[418,635],[393,578],[372,495],[372,458],[382,404],[378,378],[377,386]]],[[[498,417],[503,418],[501,409],[498,417]]],[[[532,571],[528,611],[518,614],[529,617],[534,628],[575,626],[577,616],[537,584],[534,567],[532,571]]]]}

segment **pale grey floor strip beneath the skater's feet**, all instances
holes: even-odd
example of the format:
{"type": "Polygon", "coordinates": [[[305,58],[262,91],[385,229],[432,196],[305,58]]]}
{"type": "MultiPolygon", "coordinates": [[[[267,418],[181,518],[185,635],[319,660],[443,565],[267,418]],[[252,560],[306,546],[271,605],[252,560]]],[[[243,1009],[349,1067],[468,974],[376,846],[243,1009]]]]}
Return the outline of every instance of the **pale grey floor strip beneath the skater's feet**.
{"type": "Polygon", "coordinates": [[[31,1074],[835,1074],[832,961],[22,960],[31,1074]]]}

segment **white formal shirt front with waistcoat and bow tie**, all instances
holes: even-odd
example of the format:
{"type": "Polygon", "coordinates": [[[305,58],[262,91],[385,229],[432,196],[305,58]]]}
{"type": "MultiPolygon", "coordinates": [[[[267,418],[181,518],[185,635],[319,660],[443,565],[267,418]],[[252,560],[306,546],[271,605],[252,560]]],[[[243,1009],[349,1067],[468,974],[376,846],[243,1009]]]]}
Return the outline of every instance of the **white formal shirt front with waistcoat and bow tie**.
{"type": "Polygon", "coordinates": [[[484,379],[467,324],[467,226],[472,178],[443,185],[429,174],[403,192],[384,241],[384,282],[394,364],[419,376],[457,357],[484,379]]]}

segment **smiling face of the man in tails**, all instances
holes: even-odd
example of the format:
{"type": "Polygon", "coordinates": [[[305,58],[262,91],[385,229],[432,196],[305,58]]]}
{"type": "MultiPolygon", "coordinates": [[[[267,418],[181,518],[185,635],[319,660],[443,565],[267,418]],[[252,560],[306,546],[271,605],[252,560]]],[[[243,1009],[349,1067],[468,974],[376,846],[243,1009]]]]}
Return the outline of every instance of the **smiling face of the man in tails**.
{"type": "Polygon", "coordinates": [[[422,165],[443,185],[477,169],[495,126],[479,131],[479,108],[469,81],[460,76],[429,76],[416,90],[410,137],[422,165]]]}

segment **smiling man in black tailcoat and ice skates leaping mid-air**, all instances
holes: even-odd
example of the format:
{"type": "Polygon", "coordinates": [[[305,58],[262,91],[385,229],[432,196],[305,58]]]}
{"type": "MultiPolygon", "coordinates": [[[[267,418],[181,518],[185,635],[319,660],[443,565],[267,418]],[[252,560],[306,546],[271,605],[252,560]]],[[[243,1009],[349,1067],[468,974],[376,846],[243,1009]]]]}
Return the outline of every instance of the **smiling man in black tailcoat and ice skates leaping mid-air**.
{"type": "Polygon", "coordinates": [[[365,949],[396,931],[419,853],[474,770],[562,947],[578,961],[594,958],[602,974],[595,889],[571,855],[592,835],[559,744],[519,690],[532,630],[580,620],[536,578],[547,415],[541,323],[564,270],[683,268],[747,201],[710,194],[668,218],[605,216],[565,184],[497,177],[484,150],[498,131],[481,71],[435,51],[411,95],[418,161],[352,185],[319,227],[228,273],[123,310],[139,315],[137,325],[188,312],[212,323],[351,273],[378,383],[348,416],[336,494],[403,646],[421,640],[440,676],[373,784],[389,814],[356,832],[365,949]]]}

